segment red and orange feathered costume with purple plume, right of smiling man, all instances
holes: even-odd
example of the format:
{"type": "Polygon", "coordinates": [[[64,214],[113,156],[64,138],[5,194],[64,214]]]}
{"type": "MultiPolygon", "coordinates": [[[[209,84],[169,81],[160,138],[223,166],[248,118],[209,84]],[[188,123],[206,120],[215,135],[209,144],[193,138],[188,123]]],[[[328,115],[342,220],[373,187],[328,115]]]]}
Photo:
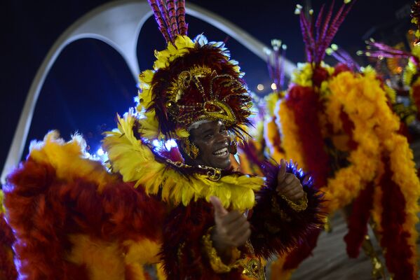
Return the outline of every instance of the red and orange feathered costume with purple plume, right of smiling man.
{"type": "MultiPolygon", "coordinates": [[[[281,144],[287,158],[313,174],[327,212],[351,208],[344,237],[348,255],[358,256],[371,223],[393,279],[414,280],[420,182],[400,118],[390,106],[392,90],[372,67],[359,72],[355,64],[323,62],[350,8],[343,4],[333,16],[332,4],[327,13],[323,7],[316,19],[307,19],[297,7],[308,62],[299,64],[276,107],[281,144]]],[[[307,244],[286,256],[283,274],[290,276],[309,256],[318,235],[312,232],[307,244]]],[[[384,267],[373,256],[372,264],[372,276],[379,277],[384,267]]]]}

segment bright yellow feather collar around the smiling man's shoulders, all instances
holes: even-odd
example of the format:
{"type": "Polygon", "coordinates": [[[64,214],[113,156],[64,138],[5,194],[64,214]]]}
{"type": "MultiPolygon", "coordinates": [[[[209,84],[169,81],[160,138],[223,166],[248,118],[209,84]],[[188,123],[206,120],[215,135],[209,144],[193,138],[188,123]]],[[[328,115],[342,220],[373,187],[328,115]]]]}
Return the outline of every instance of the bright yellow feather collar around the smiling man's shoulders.
{"type": "Polygon", "coordinates": [[[157,162],[149,146],[134,136],[136,120],[133,112],[118,117],[118,129],[107,132],[104,138],[112,169],[123,176],[123,181],[136,182],[135,186],[141,185],[150,195],[161,189],[162,200],[174,205],[217,196],[226,208],[245,210],[254,206],[254,191],[264,185],[261,177],[230,175],[210,181],[208,176],[194,174],[187,178],[170,165],[157,162]]]}

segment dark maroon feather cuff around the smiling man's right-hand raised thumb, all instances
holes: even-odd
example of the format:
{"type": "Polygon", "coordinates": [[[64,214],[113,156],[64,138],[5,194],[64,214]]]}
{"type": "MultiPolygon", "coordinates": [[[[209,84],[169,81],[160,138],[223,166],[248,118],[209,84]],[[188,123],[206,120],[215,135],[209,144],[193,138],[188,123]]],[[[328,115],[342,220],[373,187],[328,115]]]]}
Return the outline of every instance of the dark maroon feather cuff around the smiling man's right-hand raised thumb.
{"type": "Polygon", "coordinates": [[[252,246],[255,254],[264,258],[276,253],[281,255],[296,246],[302,248],[308,235],[320,231],[325,216],[320,209],[322,196],[313,188],[312,179],[307,179],[302,169],[297,169],[292,162],[287,166],[287,172],[301,181],[308,197],[308,207],[297,212],[280,198],[276,194],[278,170],[278,165],[265,162],[266,187],[257,193],[259,199],[250,218],[252,246]]]}

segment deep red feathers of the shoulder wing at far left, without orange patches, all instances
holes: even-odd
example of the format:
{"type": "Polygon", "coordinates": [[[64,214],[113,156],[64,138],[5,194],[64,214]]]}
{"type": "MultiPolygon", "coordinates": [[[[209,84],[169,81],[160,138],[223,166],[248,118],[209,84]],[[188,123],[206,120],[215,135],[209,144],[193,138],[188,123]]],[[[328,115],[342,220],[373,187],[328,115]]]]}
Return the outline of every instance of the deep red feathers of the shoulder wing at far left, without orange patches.
{"type": "Polygon", "coordinates": [[[95,183],[62,181],[53,167],[30,158],[11,174],[4,193],[17,268],[28,279],[88,279],[86,267],[64,258],[69,234],[104,241],[158,240],[165,212],[142,188],[109,183],[98,193],[95,183]]]}

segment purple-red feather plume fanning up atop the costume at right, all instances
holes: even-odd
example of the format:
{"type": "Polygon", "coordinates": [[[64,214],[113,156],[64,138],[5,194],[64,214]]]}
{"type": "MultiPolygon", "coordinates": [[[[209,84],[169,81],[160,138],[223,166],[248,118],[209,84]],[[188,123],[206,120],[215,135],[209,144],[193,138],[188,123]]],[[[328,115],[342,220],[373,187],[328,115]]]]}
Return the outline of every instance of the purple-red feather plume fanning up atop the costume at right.
{"type": "Polygon", "coordinates": [[[309,20],[306,18],[304,13],[302,13],[302,6],[297,5],[295,13],[299,14],[299,22],[302,36],[304,38],[306,59],[308,62],[314,62],[316,65],[318,65],[321,61],[323,61],[325,57],[325,50],[330,45],[335,34],[337,34],[341,23],[346,18],[348,12],[351,10],[354,2],[355,1],[353,1],[350,5],[346,5],[346,3],[350,3],[350,1],[345,0],[334,18],[332,17],[334,0],[332,1],[327,14],[325,15],[325,18],[323,18],[325,6],[322,6],[320,13],[318,14],[318,17],[315,21],[315,25],[313,24],[313,11],[311,10],[309,12],[309,20]],[[313,35],[313,32],[315,32],[315,36],[313,35]]]}

